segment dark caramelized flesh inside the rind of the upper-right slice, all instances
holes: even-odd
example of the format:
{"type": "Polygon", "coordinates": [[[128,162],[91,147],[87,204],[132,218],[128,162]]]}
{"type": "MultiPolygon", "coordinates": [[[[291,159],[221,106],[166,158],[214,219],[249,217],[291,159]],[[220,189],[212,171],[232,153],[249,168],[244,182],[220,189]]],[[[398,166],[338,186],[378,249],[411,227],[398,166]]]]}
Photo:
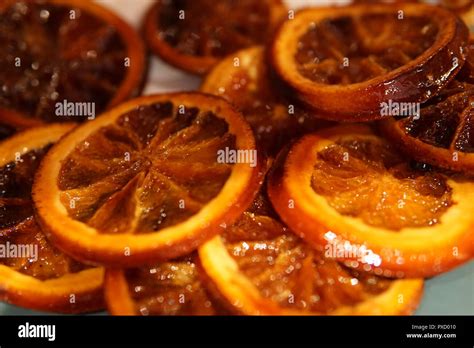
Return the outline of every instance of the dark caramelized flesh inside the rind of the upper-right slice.
{"type": "Polygon", "coordinates": [[[313,23],[299,38],[298,71],[322,84],[364,82],[395,70],[433,45],[431,18],[355,14],[313,23]]]}

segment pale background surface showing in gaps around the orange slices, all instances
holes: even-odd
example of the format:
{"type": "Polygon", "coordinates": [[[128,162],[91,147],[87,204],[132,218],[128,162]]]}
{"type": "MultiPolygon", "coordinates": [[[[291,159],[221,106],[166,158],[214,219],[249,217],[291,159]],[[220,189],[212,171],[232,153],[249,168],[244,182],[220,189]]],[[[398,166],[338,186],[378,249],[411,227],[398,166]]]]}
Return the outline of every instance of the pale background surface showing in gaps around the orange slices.
{"type": "MultiPolygon", "coordinates": [[[[195,0],[199,1],[199,0],[195,0]]],[[[218,0],[216,0],[218,1],[218,0]]],[[[259,0],[255,0],[259,1],[259,0]]],[[[133,27],[139,28],[144,13],[153,0],[99,0],[117,12],[133,27]]],[[[338,4],[347,1],[337,1],[338,4]]],[[[334,3],[330,0],[286,1],[290,8],[334,3]]],[[[192,90],[199,87],[200,78],[183,73],[153,57],[150,59],[148,83],[144,94],[192,90]]],[[[452,272],[426,281],[425,295],[417,314],[470,314],[474,315],[474,262],[452,272]]],[[[37,314],[29,310],[0,303],[0,314],[37,314]]]]}

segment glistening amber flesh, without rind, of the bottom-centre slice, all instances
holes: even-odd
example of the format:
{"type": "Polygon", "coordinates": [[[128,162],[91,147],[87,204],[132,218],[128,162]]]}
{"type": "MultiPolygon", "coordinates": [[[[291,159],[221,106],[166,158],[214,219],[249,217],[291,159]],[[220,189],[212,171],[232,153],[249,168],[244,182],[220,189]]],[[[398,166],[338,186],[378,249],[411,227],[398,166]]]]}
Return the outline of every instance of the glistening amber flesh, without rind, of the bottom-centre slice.
{"type": "Polygon", "coordinates": [[[227,250],[263,297],[325,314],[386,290],[390,281],[325,259],[283,226],[262,196],[224,234],[227,250]]]}

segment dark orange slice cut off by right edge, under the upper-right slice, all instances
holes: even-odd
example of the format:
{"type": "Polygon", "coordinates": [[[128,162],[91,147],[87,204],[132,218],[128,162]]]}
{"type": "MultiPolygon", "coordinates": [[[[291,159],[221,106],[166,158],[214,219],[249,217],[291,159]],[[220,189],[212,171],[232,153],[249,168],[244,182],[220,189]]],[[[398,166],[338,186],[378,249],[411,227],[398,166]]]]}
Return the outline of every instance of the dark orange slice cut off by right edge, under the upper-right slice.
{"type": "Polygon", "coordinates": [[[420,162],[474,172],[474,40],[461,72],[419,114],[389,117],[384,135],[420,162]]]}

